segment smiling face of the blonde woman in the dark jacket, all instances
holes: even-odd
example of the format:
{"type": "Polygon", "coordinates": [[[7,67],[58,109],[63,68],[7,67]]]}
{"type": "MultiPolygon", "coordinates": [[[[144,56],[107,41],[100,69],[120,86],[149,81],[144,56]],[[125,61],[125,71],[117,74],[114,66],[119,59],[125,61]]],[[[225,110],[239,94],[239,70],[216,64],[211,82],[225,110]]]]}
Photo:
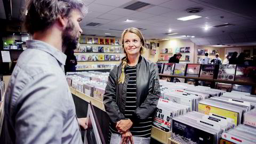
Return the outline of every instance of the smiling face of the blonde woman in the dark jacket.
{"type": "Polygon", "coordinates": [[[137,55],[140,53],[142,43],[140,37],[134,33],[124,35],[124,49],[128,55],[137,55]]]}

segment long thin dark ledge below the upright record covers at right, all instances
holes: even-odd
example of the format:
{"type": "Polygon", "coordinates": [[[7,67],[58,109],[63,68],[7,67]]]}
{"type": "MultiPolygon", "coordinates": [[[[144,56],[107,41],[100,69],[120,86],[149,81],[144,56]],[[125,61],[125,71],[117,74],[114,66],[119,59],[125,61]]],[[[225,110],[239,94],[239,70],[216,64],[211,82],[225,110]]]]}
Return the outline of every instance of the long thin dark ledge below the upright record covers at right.
{"type": "Polygon", "coordinates": [[[253,86],[256,86],[256,83],[225,81],[225,80],[219,80],[219,79],[206,79],[206,78],[201,78],[201,77],[177,76],[177,75],[166,75],[166,74],[159,74],[159,76],[178,77],[178,78],[186,78],[186,79],[197,79],[197,80],[209,81],[209,82],[218,82],[218,83],[229,83],[229,84],[253,85],[253,86]]]}

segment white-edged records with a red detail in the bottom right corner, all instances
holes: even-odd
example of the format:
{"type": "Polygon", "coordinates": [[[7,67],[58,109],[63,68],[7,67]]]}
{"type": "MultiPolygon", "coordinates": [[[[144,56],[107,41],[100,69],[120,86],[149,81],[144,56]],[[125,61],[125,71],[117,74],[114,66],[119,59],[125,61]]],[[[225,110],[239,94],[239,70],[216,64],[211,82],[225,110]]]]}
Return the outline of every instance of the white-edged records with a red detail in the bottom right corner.
{"type": "Polygon", "coordinates": [[[247,125],[238,125],[235,129],[231,129],[222,133],[220,143],[256,143],[256,129],[247,125]]]}

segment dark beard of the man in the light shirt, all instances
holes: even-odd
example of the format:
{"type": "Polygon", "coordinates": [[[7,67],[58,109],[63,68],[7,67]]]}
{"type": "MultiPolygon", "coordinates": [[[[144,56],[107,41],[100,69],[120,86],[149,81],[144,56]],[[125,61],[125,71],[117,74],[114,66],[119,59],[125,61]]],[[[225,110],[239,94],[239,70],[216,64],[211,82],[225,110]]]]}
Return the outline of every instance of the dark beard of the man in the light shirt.
{"type": "Polygon", "coordinates": [[[62,50],[75,50],[79,46],[79,41],[76,36],[71,35],[76,31],[74,30],[74,23],[68,20],[67,27],[63,30],[62,33],[62,50]],[[70,34],[71,33],[71,34],[70,34]]]}

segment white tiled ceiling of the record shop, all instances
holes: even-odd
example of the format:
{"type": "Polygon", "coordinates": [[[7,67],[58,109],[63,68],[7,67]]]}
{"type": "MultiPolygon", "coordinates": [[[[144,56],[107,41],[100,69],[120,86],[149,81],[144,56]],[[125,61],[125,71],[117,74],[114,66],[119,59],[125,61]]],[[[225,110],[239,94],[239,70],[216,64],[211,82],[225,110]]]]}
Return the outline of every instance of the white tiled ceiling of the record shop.
{"type": "MultiPolygon", "coordinates": [[[[256,42],[256,33],[252,32],[256,31],[255,9],[251,9],[252,6],[248,5],[249,10],[247,10],[246,2],[241,4],[236,3],[235,0],[225,0],[225,2],[222,0],[139,0],[152,6],[142,11],[132,11],[123,9],[122,6],[133,0],[84,1],[89,7],[89,12],[81,23],[83,34],[86,35],[105,36],[105,33],[110,33],[111,36],[120,37],[125,28],[137,27],[146,29],[142,30],[146,38],[159,39],[171,38],[164,33],[172,29],[173,33],[178,33],[173,35],[174,37],[195,36],[190,40],[197,45],[256,42]],[[189,21],[177,20],[180,17],[193,15],[185,10],[195,6],[203,7],[202,12],[196,13],[202,18],[189,21]],[[243,11],[239,10],[239,7],[242,7],[243,11]],[[221,16],[224,18],[220,18],[221,16]],[[132,19],[134,22],[125,22],[126,19],[132,19]],[[90,22],[101,23],[101,25],[85,26],[90,22]],[[211,27],[226,22],[233,23],[235,26],[211,27]],[[210,26],[210,29],[204,30],[205,25],[210,26]]],[[[13,18],[22,18],[21,11],[24,10],[25,0],[12,0],[12,7],[13,18]]],[[[0,9],[1,18],[3,18],[2,11],[4,12],[0,9]]]]}

